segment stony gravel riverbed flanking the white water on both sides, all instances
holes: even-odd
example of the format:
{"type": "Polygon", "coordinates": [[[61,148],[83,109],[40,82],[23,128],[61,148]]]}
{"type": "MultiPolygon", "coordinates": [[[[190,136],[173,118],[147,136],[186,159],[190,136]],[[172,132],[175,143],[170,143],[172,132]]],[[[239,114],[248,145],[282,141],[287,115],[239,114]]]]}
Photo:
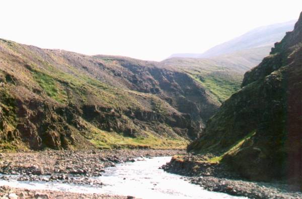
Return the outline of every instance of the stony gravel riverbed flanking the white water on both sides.
{"type": "MultiPolygon", "coordinates": [[[[97,178],[104,168],[117,163],[139,161],[142,157],[173,156],[184,150],[85,150],[20,152],[0,154],[0,177],[3,180],[46,181],[102,187],[97,178]],[[138,159],[136,159],[138,158],[138,159]]],[[[194,163],[200,158],[182,156],[164,165],[166,171],[186,175],[184,180],[210,191],[249,198],[302,198],[297,187],[280,182],[251,182],[209,163],[194,163]]],[[[0,198],[134,198],[132,196],[84,194],[51,190],[28,190],[0,186],[0,198]]]]}

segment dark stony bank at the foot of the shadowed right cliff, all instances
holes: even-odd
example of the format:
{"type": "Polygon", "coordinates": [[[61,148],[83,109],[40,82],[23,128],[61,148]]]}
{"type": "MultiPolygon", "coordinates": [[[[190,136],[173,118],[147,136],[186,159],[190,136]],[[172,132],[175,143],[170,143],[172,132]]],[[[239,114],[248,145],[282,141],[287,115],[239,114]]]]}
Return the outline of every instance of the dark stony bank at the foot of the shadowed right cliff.
{"type": "Polygon", "coordinates": [[[229,168],[215,162],[206,162],[202,156],[192,154],[174,156],[163,165],[165,171],[186,177],[209,191],[224,192],[249,198],[302,198],[299,187],[284,182],[253,182],[240,178],[229,168]]]}

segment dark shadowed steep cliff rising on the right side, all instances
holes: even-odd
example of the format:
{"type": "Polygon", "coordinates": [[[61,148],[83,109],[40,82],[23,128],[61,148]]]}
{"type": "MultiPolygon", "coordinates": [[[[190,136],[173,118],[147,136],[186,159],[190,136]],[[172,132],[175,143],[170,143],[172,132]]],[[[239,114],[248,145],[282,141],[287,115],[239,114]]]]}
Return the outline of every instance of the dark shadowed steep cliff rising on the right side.
{"type": "Polygon", "coordinates": [[[292,32],[244,76],[189,151],[210,153],[253,180],[302,179],[302,13],[292,32]]]}

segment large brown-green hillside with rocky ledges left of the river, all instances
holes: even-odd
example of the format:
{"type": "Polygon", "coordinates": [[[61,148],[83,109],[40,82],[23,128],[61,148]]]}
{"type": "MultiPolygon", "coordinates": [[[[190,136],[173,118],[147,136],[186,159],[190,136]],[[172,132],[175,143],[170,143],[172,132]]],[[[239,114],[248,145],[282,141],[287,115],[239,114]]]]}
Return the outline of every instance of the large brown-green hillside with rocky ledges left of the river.
{"type": "Polygon", "coordinates": [[[156,62],[0,40],[0,148],[184,147],[219,104],[156,62]]]}

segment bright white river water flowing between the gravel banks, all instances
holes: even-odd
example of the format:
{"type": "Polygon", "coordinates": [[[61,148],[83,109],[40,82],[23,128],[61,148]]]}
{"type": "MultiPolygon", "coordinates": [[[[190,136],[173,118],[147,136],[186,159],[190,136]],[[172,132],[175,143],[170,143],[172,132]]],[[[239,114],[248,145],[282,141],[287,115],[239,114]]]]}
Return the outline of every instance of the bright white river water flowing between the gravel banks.
{"type": "Polygon", "coordinates": [[[160,166],[170,161],[171,157],[155,157],[129,163],[117,164],[106,168],[99,178],[105,185],[63,184],[60,182],[6,181],[0,185],[19,188],[61,190],[81,193],[106,193],[132,195],[138,198],[240,198],[225,193],[207,191],[199,185],[189,183],[182,176],[167,173],[160,166]]]}

